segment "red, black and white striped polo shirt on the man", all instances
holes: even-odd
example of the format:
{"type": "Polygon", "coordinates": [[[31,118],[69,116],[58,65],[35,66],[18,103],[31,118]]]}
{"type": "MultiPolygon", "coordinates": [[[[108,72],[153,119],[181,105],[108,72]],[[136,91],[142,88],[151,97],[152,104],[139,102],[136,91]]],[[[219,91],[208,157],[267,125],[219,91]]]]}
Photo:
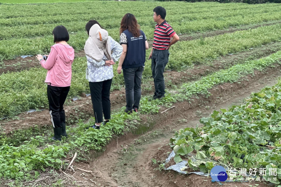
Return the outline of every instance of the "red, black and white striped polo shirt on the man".
{"type": "Polygon", "coordinates": [[[171,25],[169,25],[166,20],[160,25],[157,23],[154,30],[154,41],[152,48],[165,50],[167,46],[169,46],[171,37],[174,36],[174,34],[176,34],[176,32],[174,32],[171,25]]]}

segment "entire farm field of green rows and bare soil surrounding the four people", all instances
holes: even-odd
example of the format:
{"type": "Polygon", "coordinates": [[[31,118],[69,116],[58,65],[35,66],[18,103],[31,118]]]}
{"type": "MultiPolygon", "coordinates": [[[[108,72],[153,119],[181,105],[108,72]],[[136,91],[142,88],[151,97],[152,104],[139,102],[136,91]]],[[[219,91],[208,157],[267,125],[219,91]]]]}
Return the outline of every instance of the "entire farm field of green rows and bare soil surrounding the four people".
{"type": "Polygon", "coordinates": [[[237,171],[276,168],[276,181],[265,175],[263,181],[227,186],[280,187],[281,5],[24,2],[30,4],[0,5],[0,186],[219,186],[210,177],[164,170],[192,152],[201,160],[189,160],[191,170],[208,172],[215,162],[237,171]],[[119,41],[120,20],[130,10],[151,47],[152,10],[159,5],[181,39],[169,50],[166,97],[149,101],[147,60],[140,111],[123,113],[123,75],[114,66],[112,119],[100,131],[85,130],[94,122],[84,78],[85,23],[98,20],[119,41]],[[65,104],[69,137],[59,143],[50,141],[46,71],[35,57],[19,57],[48,53],[56,25],[66,26],[76,51],[65,104]],[[26,112],[32,108],[40,110],[26,112]],[[173,149],[176,156],[163,164],[173,149]]]}

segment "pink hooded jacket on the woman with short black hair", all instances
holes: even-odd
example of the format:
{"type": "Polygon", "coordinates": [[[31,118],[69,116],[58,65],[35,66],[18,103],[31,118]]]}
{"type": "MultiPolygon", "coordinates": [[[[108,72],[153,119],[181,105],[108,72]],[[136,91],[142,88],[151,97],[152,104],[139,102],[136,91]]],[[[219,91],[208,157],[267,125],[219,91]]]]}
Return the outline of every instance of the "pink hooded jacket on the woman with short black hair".
{"type": "Polygon", "coordinates": [[[71,46],[59,43],[51,46],[47,60],[40,61],[42,67],[48,70],[45,82],[51,86],[70,86],[73,59],[74,49],[71,46]]]}

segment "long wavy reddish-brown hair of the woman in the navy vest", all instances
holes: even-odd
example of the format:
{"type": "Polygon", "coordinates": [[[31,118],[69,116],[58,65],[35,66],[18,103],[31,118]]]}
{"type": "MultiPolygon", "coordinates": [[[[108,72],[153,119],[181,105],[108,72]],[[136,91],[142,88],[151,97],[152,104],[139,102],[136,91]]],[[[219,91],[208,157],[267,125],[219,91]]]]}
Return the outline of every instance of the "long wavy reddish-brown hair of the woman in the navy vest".
{"type": "Polygon", "coordinates": [[[134,37],[140,36],[140,25],[138,25],[138,22],[133,14],[126,13],[124,17],[121,20],[121,26],[120,26],[120,35],[121,33],[128,29],[129,32],[133,34],[134,37]]]}

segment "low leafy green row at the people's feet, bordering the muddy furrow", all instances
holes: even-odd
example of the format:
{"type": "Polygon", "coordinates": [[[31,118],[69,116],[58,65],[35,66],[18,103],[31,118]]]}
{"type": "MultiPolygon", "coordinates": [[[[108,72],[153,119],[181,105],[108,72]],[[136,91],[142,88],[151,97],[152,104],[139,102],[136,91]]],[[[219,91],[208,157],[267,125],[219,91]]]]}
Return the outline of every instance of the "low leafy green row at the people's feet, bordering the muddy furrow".
{"type": "MultiPolygon", "coordinates": [[[[228,70],[219,71],[207,76],[208,78],[206,78],[204,82],[200,80],[193,82],[193,84],[183,85],[176,90],[178,92],[177,94],[173,95],[168,91],[167,96],[161,100],[149,101],[148,96],[143,96],[140,102],[140,113],[157,113],[159,105],[169,106],[174,102],[190,99],[198,93],[208,95],[208,89],[210,88],[204,86],[205,84],[214,86],[214,84],[223,82],[238,81],[241,77],[254,70],[263,71],[264,68],[270,65],[274,65],[275,63],[280,64],[280,58],[281,52],[277,52],[267,58],[249,61],[244,66],[237,65],[228,70]],[[234,73],[234,70],[243,73],[234,73]],[[220,79],[220,81],[216,81],[216,79],[220,79]],[[197,86],[197,90],[193,91],[192,95],[191,91],[187,92],[186,90],[193,90],[194,85],[197,86]]],[[[280,95],[280,90],[278,91],[280,95]]],[[[267,93],[265,92],[265,94],[267,93]]],[[[272,100],[274,99],[270,101],[272,100]]],[[[270,102],[268,102],[268,106],[275,108],[270,102]]],[[[57,145],[50,143],[49,136],[52,134],[52,131],[46,131],[46,134],[31,137],[29,140],[16,145],[13,145],[15,142],[13,141],[13,137],[4,136],[0,138],[0,177],[30,180],[40,175],[38,170],[44,171],[46,167],[58,169],[63,162],[61,161],[62,158],[66,157],[66,154],[68,154],[70,150],[72,152],[77,151],[82,158],[83,155],[89,154],[89,150],[102,150],[102,147],[111,140],[113,135],[122,134],[129,129],[133,130],[137,128],[140,123],[140,113],[133,112],[128,115],[123,113],[122,111],[124,110],[122,109],[114,113],[111,121],[100,130],[89,129],[85,131],[85,127],[93,125],[94,121],[88,123],[83,123],[81,121],[76,127],[71,129],[67,128],[69,137],[63,139],[63,141],[57,145]],[[34,170],[35,175],[31,175],[34,170]]],[[[261,110],[258,111],[261,112],[261,110]]],[[[239,118],[236,120],[239,120],[239,118]]]]}

